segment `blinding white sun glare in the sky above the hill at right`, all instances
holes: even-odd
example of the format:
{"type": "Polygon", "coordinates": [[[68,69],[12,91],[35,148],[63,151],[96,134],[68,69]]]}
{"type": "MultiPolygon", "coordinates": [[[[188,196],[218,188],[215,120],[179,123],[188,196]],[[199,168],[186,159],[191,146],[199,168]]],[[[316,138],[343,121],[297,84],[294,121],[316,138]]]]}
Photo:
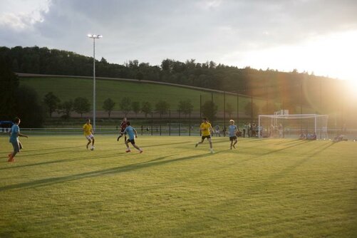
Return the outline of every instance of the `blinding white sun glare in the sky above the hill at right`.
{"type": "Polygon", "coordinates": [[[306,38],[297,45],[231,53],[224,61],[287,72],[296,68],[299,72],[314,73],[316,76],[348,80],[357,93],[356,42],[357,31],[331,33],[306,38]]]}

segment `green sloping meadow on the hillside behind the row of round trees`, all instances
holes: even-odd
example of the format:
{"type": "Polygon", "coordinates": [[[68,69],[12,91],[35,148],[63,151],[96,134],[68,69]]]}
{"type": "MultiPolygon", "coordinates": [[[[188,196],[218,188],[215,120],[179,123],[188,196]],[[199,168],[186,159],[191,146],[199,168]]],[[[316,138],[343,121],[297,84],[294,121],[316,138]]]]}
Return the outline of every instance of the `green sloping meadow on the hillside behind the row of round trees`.
{"type": "MultiPolygon", "coordinates": [[[[21,85],[34,88],[39,98],[48,92],[53,92],[61,101],[73,100],[77,97],[88,98],[90,104],[93,100],[93,80],[90,78],[51,78],[51,77],[24,77],[20,78],[21,85]]],[[[119,103],[123,97],[128,97],[132,101],[143,103],[148,101],[155,109],[155,103],[159,100],[165,100],[170,104],[171,110],[177,110],[180,100],[190,99],[194,110],[200,110],[200,95],[202,95],[202,104],[206,100],[212,99],[212,94],[204,90],[195,90],[177,86],[164,86],[152,83],[127,82],[96,80],[96,101],[97,109],[102,110],[103,102],[107,98],[112,98],[115,104],[115,110],[119,110],[119,103]]],[[[213,93],[214,103],[219,110],[223,110],[222,93],[213,93]]],[[[226,96],[227,103],[230,103],[237,111],[237,97],[235,95],[226,96]]],[[[239,97],[239,110],[244,110],[244,105],[250,102],[250,98],[239,97]]],[[[265,101],[254,100],[255,103],[264,103],[265,101]]]]}

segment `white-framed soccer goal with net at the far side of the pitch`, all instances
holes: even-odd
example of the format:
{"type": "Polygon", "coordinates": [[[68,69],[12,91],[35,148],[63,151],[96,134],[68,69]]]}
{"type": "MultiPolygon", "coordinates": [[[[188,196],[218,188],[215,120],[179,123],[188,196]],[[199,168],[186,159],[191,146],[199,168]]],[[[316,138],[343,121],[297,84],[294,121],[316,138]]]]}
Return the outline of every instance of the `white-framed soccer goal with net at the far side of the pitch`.
{"type": "Polygon", "coordinates": [[[259,115],[259,138],[328,139],[328,115],[259,115]]]}

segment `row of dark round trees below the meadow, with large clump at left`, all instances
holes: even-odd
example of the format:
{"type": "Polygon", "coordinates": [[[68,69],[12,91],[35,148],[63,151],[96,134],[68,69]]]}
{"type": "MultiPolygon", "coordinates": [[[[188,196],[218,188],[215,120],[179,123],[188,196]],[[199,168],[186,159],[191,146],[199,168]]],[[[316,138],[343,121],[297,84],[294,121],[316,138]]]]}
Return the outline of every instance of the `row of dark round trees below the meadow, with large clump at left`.
{"type": "MultiPolygon", "coordinates": [[[[41,128],[46,116],[52,117],[53,113],[62,114],[61,118],[68,119],[74,111],[81,114],[89,113],[91,109],[88,98],[77,97],[74,100],[61,101],[53,92],[48,92],[43,98],[38,98],[36,90],[29,86],[20,86],[19,77],[12,71],[9,64],[9,58],[0,56],[0,120],[13,120],[19,116],[26,128],[41,128]]],[[[145,118],[148,115],[157,113],[163,118],[170,111],[170,104],[165,100],[159,100],[155,105],[148,101],[132,101],[128,97],[122,98],[119,102],[119,108],[126,116],[130,111],[135,115],[144,113],[145,118]]],[[[104,100],[102,108],[108,113],[112,113],[115,102],[111,98],[104,100]]],[[[180,100],[177,105],[179,115],[190,116],[194,106],[190,99],[180,100]]],[[[250,107],[249,107],[250,108],[250,107]]],[[[249,110],[249,108],[247,110],[249,110]]],[[[254,107],[255,108],[255,107],[254,107]]],[[[227,113],[232,112],[232,106],[227,103],[227,113]]],[[[202,115],[211,120],[216,119],[217,105],[211,100],[205,101],[201,106],[202,115]]]]}

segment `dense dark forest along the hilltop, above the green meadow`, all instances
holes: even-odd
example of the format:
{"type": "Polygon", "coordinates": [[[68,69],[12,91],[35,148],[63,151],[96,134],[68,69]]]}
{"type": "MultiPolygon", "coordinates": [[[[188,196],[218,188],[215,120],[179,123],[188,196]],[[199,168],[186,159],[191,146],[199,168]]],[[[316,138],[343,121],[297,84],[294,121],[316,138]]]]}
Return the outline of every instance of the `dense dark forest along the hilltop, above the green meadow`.
{"type": "MultiPolygon", "coordinates": [[[[8,58],[14,72],[93,76],[93,58],[71,51],[38,46],[3,46],[0,47],[0,56],[8,58]]],[[[120,65],[108,63],[105,58],[101,58],[96,60],[95,67],[98,77],[160,81],[235,92],[283,102],[284,108],[291,110],[292,113],[301,105],[311,104],[311,100],[313,103],[319,103],[321,97],[316,96],[317,93],[331,95],[332,90],[341,90],[341,85],[336,80],[314,76],[313,73],[299,73],[296,69],[286,73],[269,68],[257,70],[249,66],[225,66],[214,61],[198,63],[195,59],[180,62],[166,58],[160,66],[150,66],[150,63],[140,63],[138,60],[120,65]],[[321,85],[325,86],[324,92],[321,92],[321,85]]],[[[329,101],[324,108],[320,107],[320,113],[334,110],[338,103],[341,102],[329,101]]]]}

